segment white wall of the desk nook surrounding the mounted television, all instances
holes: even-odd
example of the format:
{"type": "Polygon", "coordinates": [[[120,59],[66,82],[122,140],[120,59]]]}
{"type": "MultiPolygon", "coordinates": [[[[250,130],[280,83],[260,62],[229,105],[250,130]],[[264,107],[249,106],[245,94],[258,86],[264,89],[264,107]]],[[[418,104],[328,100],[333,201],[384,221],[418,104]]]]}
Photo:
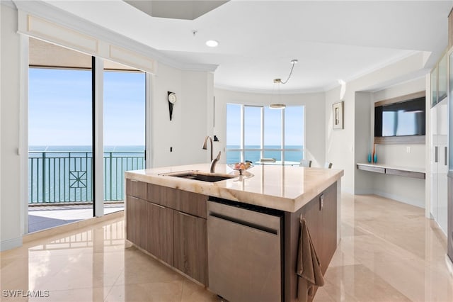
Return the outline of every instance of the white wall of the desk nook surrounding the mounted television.
{"type": "MultiPolygon", "coordinates": [[[[364,93],[360,93],[360,96],[356,94],[356,108],[360,107],[360,111],[356,111],[355,145],[357,151],[359,145],[361,146],[361,151],[356,152],[355,155],[356,162],[367,162],[367,153],[370,148],[366,150],[362,145],[366,140],[365,138],[372,138],[374,136],[374,103],[424,91],[425,84],[425,77],[421,77],[374,93],[367,93],[367,99],[362,98],[364,93]],[[366,102],[367,105],[359,104],[361,101],[366,102]],[[357,128],[367,128],[367,130],[364,131],[357,128]]],[[[369,140],[367,142],[369,143],[369,140]]],[[[425,168],[425,144],[376,145],[376,153],[378,164],[425,168]],[[407,147],[411,148],[411,153],[406,152],[407,147]]],[[[427,175],[427,179],[429,179],[429,172],[427,175]]],[[[425,179],[377,174],[356,169],[355,194],[377,194],[413,206],[425,208],[425,179]]]]}

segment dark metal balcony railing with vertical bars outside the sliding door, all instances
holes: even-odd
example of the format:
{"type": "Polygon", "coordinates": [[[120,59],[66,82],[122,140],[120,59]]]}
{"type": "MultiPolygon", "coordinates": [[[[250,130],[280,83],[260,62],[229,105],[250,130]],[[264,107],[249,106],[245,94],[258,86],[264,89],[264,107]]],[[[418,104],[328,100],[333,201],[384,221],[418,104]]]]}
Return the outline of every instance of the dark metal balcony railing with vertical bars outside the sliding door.
{"type": "MultiPolygon", "coordinates": [[[[144,152],[104,152],[104,199],[124,200],[124,172],[144,169],[144,152]]],[[[28,152],[28,203],[93,201],[93,153],[28,152]]]]}

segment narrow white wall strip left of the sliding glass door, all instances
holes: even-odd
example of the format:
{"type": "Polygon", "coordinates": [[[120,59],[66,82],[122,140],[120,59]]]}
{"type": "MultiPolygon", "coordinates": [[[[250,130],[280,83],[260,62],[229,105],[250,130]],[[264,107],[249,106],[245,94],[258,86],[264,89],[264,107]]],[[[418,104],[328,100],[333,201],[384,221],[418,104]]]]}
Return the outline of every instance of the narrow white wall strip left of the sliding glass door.
{"type": "Polygon", "coordinates": [[[19,179],[20,39],[17,12],[1,5],[0,250],[22,244],[19,179]]]}

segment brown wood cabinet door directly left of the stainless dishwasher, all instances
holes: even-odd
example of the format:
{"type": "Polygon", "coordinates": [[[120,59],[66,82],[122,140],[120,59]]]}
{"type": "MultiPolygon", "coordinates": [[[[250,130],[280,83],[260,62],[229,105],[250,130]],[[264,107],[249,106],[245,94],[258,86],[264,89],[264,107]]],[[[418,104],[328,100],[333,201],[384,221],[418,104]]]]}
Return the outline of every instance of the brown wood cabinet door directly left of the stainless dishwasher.
{"type": "Polygon", "coordinates": [[[206,219],[174,211],[174,267],[207,284],[206,219]]]}

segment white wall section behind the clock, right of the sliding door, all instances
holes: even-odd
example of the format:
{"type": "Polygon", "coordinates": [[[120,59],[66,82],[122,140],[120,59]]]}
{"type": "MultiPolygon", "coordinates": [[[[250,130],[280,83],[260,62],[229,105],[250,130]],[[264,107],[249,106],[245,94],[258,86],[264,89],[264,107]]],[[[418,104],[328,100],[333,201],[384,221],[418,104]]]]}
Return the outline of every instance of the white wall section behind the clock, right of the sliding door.
{"type": "Polygon", "coordinates": [[[152,167],[209,162],[202,143],[211,131],[207,120],[212,120],[208,117],[212,113],[209,115],[207,108],[212,104],[212,78],[210,72],[182,71],[159,64],[151,104],[152,167]],[[176,93],[178,99],[173,106],[172,121],[168,115],[167,91],[176,93]]]}

